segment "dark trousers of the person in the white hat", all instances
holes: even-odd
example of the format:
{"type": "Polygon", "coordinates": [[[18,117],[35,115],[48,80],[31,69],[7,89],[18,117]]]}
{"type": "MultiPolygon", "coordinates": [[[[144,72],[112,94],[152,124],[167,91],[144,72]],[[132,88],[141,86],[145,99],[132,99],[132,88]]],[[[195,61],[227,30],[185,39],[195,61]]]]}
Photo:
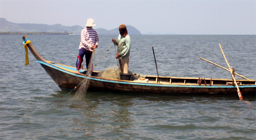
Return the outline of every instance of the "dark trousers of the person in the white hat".
{"type": "Polygon", "coordinates": [[[79,54],[77,56],[77,61],[76,61],[76,69],[81,68],[81,63],[83,62],[83,56],[85,56],[86,69],[87,69],[90,63],[91,55],[92,55],[91,51],[87,51],[85,48],[79,49],[79,54]]]}

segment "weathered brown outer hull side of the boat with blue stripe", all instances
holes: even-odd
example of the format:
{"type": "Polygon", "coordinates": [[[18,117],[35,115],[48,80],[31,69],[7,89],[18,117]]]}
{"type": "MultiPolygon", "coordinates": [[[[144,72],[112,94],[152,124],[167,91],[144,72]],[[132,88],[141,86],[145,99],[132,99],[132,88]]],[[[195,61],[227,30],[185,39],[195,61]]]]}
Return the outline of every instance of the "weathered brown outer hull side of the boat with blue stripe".
{"type": "MultiPolygon", "coordinates": [[[[209,86],[209,85],[179,85],[179,84],[161,84],[161,83],[139,83],[133,81],[122,81],[115,79],[104,79],[99,77],[85,77],[76,75],[75,73],[65,71],[60,67],[52,64],[40,62],[45,71],[51,76],[53,81],[62,90],[70,90],[75,88],[83,78],[90,79],[88,90],[109,91],[120,93],[138,93],[138,94],[234,94],[237,96],[237,88],[235,86],[209,86]]],[[[239,86],[240,91],[244,95],[255,95],[256,85],[239,86]]]]}

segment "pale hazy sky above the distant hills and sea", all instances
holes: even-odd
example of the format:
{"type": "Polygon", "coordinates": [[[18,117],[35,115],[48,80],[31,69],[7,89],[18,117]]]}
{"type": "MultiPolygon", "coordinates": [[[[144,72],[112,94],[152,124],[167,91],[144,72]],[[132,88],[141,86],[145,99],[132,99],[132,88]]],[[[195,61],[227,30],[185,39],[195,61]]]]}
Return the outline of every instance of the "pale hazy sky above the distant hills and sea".
{"type": "Polygon", "coordinates": [[[114,29],[121,23],[141,33],[256,34],[256,1],[0,0],[0,17],[14,23],[114,29]]]}

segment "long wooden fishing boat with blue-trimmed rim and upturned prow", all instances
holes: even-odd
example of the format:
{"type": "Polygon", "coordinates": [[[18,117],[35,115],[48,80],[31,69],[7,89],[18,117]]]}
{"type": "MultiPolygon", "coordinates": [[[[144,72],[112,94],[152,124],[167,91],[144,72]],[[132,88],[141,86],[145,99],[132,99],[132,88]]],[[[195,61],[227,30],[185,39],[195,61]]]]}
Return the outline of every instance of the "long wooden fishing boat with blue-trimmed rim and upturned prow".
{"type": "MultiPolygon", "coordinates": [[[[26,41],[27,36],[23,36],[26,41]]],[[[161,77],[144,76],[136,74],[137,79],[130,81],[121,79],[107,79],[98,77],[100,72],[93,71],[92,76],[85,74],[76,74],[76,68],[66,66],[60,63],[46,61],[37,53],[32,43],[28,43],[27,47],[32,52],[37,62],[51,76],[53,81],[62,90],[75,88],[83,78],[90,79],[88,90],[110,91],[121,93],[156,93],[156,94],[234,94],[237,96],[237,88],[233,84],[232,79],[211,79],[211,78],[188,78],[188,77],[161,77]]],[[[86,73],[85,69],[81,69],[82,73],[86,73]]],[[[237,84],[243,96],[255,95],[256,80],[255,79],[239,79],[237,84]]]]}

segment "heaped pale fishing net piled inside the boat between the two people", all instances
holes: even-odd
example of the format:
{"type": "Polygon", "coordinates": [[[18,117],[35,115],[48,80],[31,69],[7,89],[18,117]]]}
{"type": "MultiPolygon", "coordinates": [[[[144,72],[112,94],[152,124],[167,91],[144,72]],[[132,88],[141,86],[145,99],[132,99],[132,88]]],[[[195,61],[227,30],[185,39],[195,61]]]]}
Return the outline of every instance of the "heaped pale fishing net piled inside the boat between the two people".
{"type": "Polygon", "coordinates": [[[118,66],[109,67],[100,72],[99,77],[108,79],[120,79],[120,68],[118,66]]]}

